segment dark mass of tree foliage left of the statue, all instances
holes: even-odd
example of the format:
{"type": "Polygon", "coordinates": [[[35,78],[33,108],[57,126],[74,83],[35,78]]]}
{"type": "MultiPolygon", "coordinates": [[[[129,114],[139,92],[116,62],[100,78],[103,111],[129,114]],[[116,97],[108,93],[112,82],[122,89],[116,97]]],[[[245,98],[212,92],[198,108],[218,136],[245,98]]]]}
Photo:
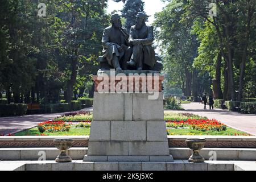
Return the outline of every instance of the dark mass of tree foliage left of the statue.
{"type": "Polygon", "coordinates": [[[107,0],[41,2],[46,17],[37,15],[38,1],[1,2],[0,92],[9,102],[58,103],[60,93],[82,97],[92,88],[102,31],[109,26],[107,0]]]}

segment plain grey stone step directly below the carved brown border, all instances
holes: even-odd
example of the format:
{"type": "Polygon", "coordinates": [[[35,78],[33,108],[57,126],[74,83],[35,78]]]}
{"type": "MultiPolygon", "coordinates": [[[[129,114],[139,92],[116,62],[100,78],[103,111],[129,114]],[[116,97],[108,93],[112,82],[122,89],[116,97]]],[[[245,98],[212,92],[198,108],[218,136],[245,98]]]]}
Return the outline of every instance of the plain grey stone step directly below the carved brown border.
{"type": "MultiPolygon", "coordinates": [[[[68,155],[73,160],[81,160],[88,148],[73,147],[68,155]]],[[[60,151],[57,148],[0,148],[0,160],[54,160],[60,151]]],[[[177,159],[188,159],[189,148],[170,148],[170,154],[177,159]]],[[[256,160],[256,148],[203,148],[200,154],[205,160],[256,160]]]]}

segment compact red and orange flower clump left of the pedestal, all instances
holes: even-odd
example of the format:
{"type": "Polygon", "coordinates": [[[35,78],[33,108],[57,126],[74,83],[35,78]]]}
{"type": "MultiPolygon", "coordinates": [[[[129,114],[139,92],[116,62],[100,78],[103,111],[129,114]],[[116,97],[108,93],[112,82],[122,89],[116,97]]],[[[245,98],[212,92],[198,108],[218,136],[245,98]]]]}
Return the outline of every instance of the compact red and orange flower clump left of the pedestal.
{"type": "Polygon", "coordinates": [[[67,124],[64,121],[46,121],[38,124],[38,130],[40,133],[45,131],[48,133],[55,133],[59,131],[69,131],[71,124],[67,124]]]}

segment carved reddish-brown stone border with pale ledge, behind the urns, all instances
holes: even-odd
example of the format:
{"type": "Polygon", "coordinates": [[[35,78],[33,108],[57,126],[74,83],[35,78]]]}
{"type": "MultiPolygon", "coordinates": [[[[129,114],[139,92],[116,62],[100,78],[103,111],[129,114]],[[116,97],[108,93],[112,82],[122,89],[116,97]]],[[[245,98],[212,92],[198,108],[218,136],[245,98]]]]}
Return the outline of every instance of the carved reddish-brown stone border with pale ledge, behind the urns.
{"type": "MultiPolygon", "coordinates": [[[[55,147],[53,139],[60,136],[49,137],[0,137],[0,148],[19,147],[55,147]]],[[[61,136],[72,138],[73,147],[88,147],[89,136],[61,136]]],[[[187,138],[205,138],[207,148],[256,148],[256,137],[239,136],[168,136],[169,147],[187,147],[187,138]]]]}

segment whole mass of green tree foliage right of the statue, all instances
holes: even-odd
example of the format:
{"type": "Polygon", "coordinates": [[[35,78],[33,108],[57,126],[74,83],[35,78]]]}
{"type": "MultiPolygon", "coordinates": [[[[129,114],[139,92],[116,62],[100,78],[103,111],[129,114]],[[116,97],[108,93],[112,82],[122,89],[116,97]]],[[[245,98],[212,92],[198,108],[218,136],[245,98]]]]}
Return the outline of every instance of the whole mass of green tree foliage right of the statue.
{"type": "Polygon", "coordinates": [[[197,97],[213,88],[211,75],[220,82],[218,87],[225,91],[225,100],[236,101],[234,93],[239,88],[242,88],[239,94],[255,97],[255,1],[216,1],[217,16],[213,17],[209,16],[208,7],[212,0],[166,2],[168,5],[155,15],[154,22],[164,55],[164,87],[181,89],[185,96],[192,93],[197,97]],[[245,60],[244,74],[242,60],[245,60]],[[225,72],[228,76],[224,77],[225,72]]]}

